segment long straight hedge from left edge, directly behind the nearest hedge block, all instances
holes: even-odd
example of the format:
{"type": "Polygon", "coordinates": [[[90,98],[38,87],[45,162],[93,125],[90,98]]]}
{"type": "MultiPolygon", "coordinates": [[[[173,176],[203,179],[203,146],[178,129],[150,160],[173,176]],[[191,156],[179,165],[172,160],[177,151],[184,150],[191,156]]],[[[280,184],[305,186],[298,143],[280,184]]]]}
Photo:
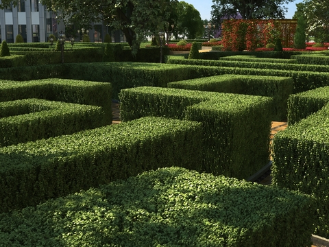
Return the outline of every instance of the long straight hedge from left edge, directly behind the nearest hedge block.
{"type": "Polygon", "coordinates": [[[200,170],[201,126],[148,117],[0,148],[0,211],[181,165],[200,170]]]}

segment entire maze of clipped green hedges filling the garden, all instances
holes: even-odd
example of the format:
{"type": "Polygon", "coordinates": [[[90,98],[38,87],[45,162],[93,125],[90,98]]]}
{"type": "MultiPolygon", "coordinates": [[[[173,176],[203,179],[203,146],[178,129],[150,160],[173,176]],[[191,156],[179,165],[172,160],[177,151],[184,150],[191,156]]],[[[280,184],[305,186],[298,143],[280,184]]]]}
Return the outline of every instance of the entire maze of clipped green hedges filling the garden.
{"type": "Polygon", "coordinates": [[[0,69],[0,244],[295,247],[328,237],[328,68],[295,57],[168,61],[22,67],[21,81],[19,67],[0,69]],[[121,124],[111,125],[112,99],[121,124]],[[271,121],[284,119],[278,186],[238,180],[268,163],[271,121]]]}

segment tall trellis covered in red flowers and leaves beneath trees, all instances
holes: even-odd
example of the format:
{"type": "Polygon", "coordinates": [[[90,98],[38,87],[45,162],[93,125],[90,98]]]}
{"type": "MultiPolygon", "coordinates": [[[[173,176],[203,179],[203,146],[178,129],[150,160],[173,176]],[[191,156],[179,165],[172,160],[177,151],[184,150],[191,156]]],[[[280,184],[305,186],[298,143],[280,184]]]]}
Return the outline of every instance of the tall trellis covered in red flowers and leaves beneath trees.
{"type": "Polygon", "coordinates": [[[222,45],[231,51],[254,51],[280,38],[284,45],[291,47],[296,26],[291,20],[226,20],[222,24],[222,45]]]}

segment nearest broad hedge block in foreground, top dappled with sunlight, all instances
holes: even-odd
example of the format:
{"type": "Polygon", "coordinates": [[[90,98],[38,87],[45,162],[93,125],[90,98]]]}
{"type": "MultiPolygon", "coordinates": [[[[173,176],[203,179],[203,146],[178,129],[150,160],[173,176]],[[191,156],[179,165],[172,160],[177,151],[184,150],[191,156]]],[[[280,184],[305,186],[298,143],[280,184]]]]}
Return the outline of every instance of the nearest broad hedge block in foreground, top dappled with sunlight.
{"type": "Polygon", "coordinates": [[[3,213],[5,246],[310,246],[310,197],[179,167],[3,213]]]}

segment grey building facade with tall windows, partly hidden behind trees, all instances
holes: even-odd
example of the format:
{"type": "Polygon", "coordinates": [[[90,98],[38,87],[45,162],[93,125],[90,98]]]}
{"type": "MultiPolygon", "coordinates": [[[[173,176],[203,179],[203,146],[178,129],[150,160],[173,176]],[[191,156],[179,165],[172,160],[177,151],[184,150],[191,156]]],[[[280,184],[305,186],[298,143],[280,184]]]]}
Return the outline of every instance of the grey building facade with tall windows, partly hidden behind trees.
{"type": "MultiPolygon", "coordinates": [[[[0,0],[1,2],[1,0],[0,0]]],[[[91,42],[103,42],[105,34],[110,34],[112,42],[125,42],[125,36],[120,30],[110,30],[103,23],[90,23],[88,36],[91,42]]],[[[16,36],[21,34],[27,43],[46,42],[49,35],[56,37],[59,32],[64,32],[66,37],[74,37],[76,41],[81,40],[77,30],[78,25],[64,25],[58,21],[55,13],[47,11],[39,0],[20,0],[16,7],[5,10],[0,9],[0,42],[14,43],[16,36]]]]}

